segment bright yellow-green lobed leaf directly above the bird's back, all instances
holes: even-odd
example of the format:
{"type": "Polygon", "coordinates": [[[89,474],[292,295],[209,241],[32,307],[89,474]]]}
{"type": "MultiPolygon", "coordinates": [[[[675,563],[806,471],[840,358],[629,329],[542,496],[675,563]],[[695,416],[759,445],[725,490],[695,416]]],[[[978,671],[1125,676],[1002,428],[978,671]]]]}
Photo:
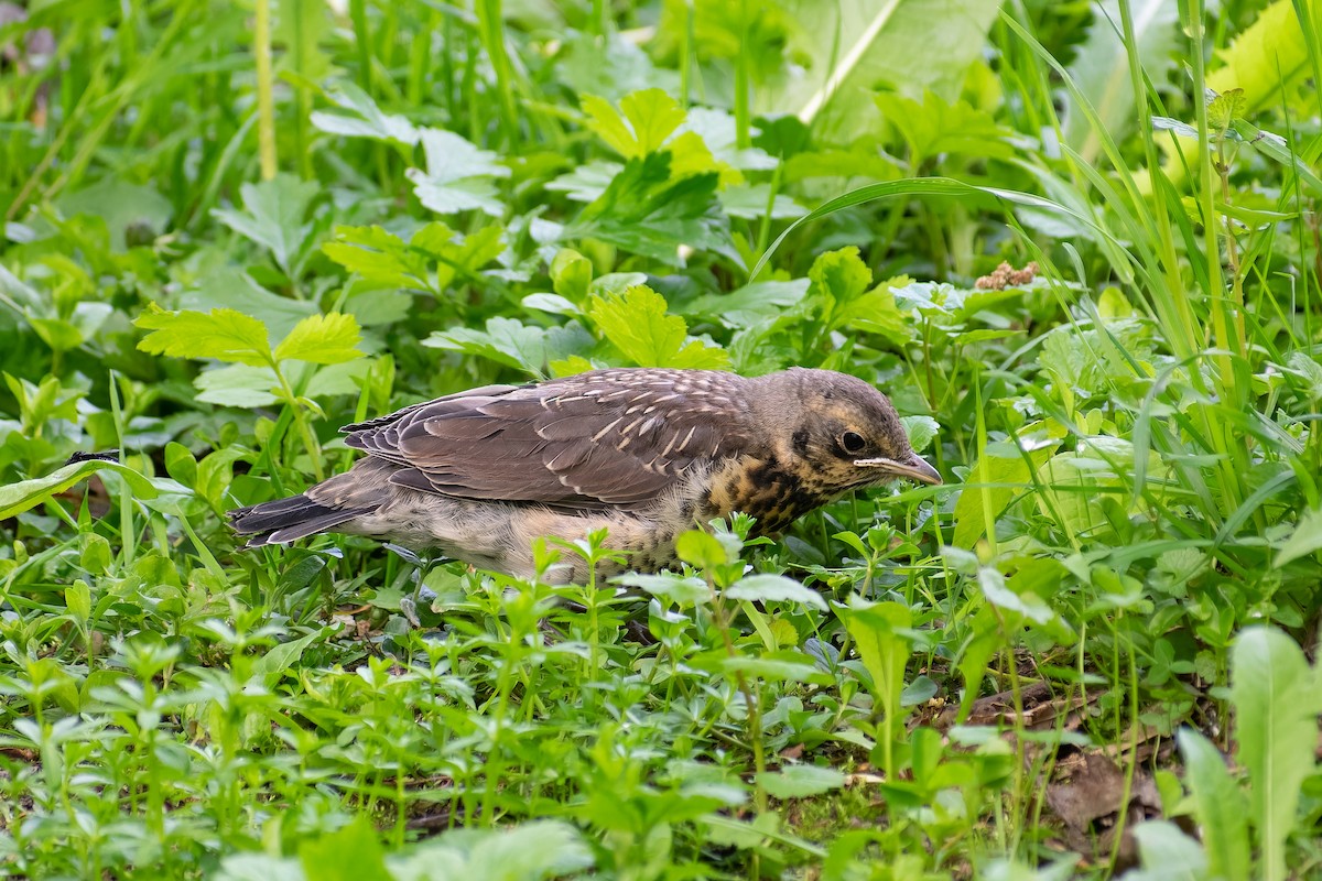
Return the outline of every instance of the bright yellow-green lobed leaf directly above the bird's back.
{"type": "Polygon", "coordinates": [[[665,299],[646,285],[624,295],[592,297],[588,317],[620,353],[640,367],[705,367],[722,370],[730,355],[689,338],[680,316],[666,314],[665,299]]]}

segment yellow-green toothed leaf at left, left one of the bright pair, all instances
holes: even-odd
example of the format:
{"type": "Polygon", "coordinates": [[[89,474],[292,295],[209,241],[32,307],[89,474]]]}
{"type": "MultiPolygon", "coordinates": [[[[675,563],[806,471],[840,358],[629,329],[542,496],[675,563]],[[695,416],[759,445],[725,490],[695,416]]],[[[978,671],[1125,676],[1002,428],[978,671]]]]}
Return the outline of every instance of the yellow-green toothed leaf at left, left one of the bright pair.
{"type": "Polygon", "coordinates": [[[134,324],[152,332],[137,343],[152,355],[274,366],[266,325],[233,309],[164,312],[151,304],[134,324]]]}

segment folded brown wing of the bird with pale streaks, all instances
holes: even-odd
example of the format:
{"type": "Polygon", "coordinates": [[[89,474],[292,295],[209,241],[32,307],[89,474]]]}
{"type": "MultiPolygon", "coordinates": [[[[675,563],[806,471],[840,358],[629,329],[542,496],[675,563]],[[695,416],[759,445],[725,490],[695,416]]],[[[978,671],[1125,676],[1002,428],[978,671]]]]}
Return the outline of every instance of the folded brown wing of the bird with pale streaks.
{"type": "Polygon", "coordinates": [[[750,448],[732,374],[600,370],[488,386],[350,425],[349,446],[402,466],[391,482],[472,499],[642,506],[697,461],[750,448]]]}

